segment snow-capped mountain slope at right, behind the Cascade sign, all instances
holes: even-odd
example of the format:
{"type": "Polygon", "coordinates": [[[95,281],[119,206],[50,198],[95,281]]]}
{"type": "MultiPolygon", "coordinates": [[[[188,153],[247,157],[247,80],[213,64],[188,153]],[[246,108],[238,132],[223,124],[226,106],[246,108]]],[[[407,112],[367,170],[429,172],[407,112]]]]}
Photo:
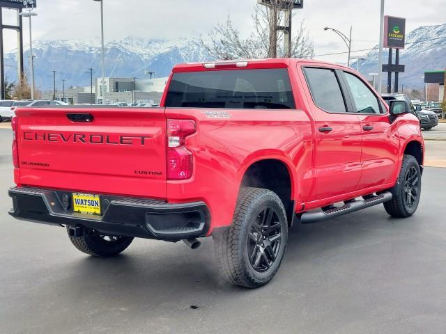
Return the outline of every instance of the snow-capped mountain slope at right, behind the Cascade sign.
{"type": "MultiPolygon", "coordinates": [[[[388,51],[385,49],[383,63],[388,62],[388,57],[388,51]]],[[[366,58],[367,60],[360,61],[360,72],[365,76],[378,72],[378,47],[370,51],[366,58]]],[[[400,51],[399,63],[406,65],[406,72],[399,74],[399,83],[405,85],[406,88],[422,87],[426,70],[445,69],[446,24],[420,26],[408,33],[406,49],[400,51]]],[[[356,68],[356,63],[353,63],[351,67],[356,68]]],[[[387,74],[385,76],[385,82],[387,82],[387,74]]],[[[392,84],[393,81],[392,77],[392,84]]]]}

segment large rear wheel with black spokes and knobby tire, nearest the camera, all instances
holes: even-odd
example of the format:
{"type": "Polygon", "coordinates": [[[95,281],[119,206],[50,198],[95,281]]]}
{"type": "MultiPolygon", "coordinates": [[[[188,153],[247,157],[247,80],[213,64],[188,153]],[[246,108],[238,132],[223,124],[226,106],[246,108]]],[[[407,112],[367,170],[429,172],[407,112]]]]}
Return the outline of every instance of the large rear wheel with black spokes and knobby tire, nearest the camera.
{"type": "Polygon", "coordinates": [[[279,270],[288,239],[282,200],[267,189],[241,189],[232,225],[213,239],[226,280],[247,288],[266,285],[279,270]]]}

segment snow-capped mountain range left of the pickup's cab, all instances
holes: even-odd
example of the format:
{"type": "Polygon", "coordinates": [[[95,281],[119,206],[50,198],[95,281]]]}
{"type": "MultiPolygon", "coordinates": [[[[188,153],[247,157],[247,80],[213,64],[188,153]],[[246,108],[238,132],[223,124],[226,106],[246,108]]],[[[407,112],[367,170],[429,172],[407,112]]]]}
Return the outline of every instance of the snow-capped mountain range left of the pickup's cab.
{"type": "MultiPolygon", "coordinates": [[[[100,40],[36,40],[33,42],[34,77],[40,90],[56,86],[61,80],[68,86],[89,86],[90,72],[100,77],[100,40]]],[[[16,65],[17,50],[5,54],[5,63],[16,65]]],[[[105,74],[107,77],[144,78],[145,71],[155,72],[155,77],[167,77],[176,63],[205,61],[208,54],[194,38],[178,40],[144,40],[124,38],[105,45],[105,74]]],[[[29,48],[24,50],[24,66],[29,73],[29,48]]],[[[17,79],[17,70],[6,66],[8,81],[17,79]]]]}

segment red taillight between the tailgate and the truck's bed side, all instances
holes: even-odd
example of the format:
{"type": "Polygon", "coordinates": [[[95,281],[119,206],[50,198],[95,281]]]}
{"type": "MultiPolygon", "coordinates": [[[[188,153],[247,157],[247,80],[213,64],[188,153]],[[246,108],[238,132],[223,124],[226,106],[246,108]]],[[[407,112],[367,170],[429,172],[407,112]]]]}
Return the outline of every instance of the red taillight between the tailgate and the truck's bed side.
{"type": "Polygon", "coordinates": [[[196,131],[194,120],[167,120],[167,179],[192,177],[192,152],[185,147],[185,139],[196,131]]]}

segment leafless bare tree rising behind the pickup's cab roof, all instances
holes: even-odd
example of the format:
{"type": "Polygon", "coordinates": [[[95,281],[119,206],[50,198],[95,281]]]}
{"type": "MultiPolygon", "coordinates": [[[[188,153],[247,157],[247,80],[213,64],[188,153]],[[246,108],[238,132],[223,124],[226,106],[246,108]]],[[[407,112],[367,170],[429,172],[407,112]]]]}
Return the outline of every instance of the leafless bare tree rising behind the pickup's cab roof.
{"type": "MultiPolygon", "coordinates": [[[[247,38],[240,36],[240,31],[234,27],[231,16],[228,15],[224,24],[217,24],[209,31],[207,38],[200,39],[201,45],[215,59],[284,56],[284,35],[274,33],[277,31],[277,26],[284,25],[285,21],[284,12],[277,8],[277,6],[255,6],[254,13],[251,15],[254,29],[247,38]]],[[[293,29],[291,56],[309,58],[313,53],[313,43],[309,39],[305,22],[302,21],[298,29],[293,29]]]]}

